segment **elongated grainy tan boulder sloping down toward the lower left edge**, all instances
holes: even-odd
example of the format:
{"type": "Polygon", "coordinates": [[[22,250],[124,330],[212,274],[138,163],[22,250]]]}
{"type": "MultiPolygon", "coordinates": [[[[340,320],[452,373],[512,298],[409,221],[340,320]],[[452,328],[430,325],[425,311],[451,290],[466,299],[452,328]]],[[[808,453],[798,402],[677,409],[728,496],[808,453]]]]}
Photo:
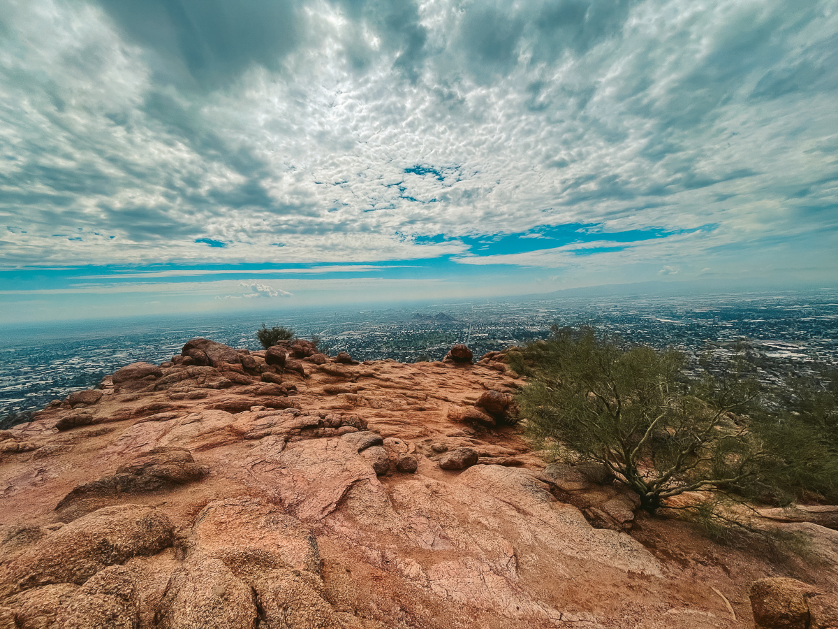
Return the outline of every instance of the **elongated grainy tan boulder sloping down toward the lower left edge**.
{"type": "Polygon", "coordinates": [[[173,533],[172,522],[156,507],[105,507],[27,548],[12,569],[23,589],[51,583],[82,585],[109,565],[157,554],[172,545],[173,533]]]}

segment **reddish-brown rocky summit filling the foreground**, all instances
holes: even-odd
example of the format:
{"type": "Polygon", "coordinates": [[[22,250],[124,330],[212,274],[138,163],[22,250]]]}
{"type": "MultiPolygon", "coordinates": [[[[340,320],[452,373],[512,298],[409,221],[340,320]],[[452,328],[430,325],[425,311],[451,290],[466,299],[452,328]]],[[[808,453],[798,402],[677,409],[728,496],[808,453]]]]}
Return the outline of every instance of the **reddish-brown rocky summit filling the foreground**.
{"type": "Polygon", "coordinates": [[[803,558],[639,513],[507,363],[194,339],[50,403],[0,432],[0,627],[838,626],[835,510],[766,512],[803,558]]]}

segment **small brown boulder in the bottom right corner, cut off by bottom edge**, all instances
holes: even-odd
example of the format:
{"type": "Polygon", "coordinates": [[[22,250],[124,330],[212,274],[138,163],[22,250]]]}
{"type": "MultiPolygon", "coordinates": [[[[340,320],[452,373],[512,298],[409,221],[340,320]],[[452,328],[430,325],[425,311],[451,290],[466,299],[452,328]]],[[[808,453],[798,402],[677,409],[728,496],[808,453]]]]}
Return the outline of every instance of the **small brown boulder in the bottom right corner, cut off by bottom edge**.
{"type": "Polygon", "coordinates": [[[796,579],[768,577],[751,584],[753,620],[758,629],[809,629],[807,595],[813,589],[796,579]]]}

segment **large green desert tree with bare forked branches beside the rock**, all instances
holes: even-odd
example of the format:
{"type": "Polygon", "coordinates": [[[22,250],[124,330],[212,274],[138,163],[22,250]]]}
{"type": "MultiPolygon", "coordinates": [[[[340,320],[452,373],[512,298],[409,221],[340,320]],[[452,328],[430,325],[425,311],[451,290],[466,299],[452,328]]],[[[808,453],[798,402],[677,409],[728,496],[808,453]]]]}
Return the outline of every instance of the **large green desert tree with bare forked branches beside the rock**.
{"type": "Polygon", "coordinates": [[[691,381],[680,352],[624,347],[591,328],[552,333],[513,365],[530,376],[518,402],[537,443],[606,465],[648,512],[685,491],[754,496],[780,480],[765,470],[782,455],[739,414],[759,386],[737,365],[691,381]]]}

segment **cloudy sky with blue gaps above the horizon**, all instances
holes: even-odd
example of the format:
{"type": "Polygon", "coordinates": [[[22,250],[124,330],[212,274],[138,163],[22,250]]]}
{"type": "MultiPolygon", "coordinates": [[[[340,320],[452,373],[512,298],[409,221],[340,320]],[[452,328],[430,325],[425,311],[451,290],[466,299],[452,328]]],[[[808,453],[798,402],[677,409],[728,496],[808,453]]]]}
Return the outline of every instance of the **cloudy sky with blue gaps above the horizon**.
{"type": "Polygon", "coordinates": [[[838,0],[0,0],[0,323],[838,283],[838,0]]]}

